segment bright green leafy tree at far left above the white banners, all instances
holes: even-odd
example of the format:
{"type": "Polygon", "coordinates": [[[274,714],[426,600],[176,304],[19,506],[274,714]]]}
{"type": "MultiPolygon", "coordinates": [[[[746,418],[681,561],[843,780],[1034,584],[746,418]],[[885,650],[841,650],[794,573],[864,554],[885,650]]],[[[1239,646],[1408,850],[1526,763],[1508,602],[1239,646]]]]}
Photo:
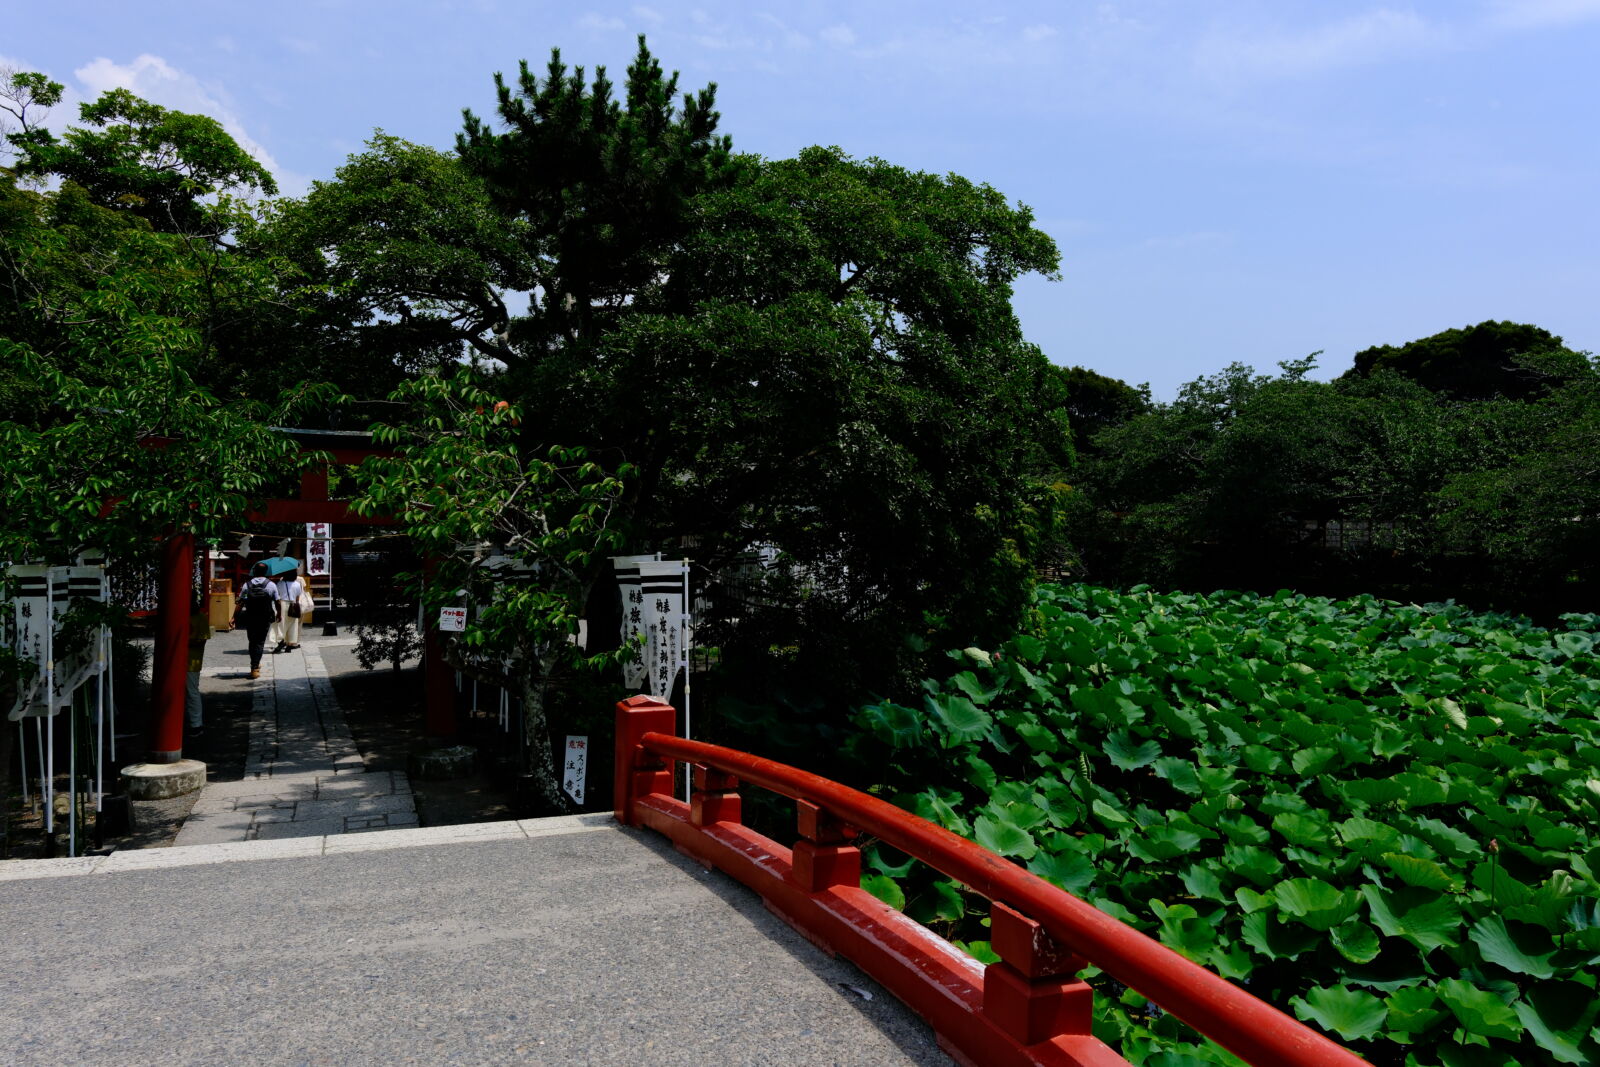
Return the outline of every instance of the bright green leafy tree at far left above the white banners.
{"type": "MultiPolygon", "coordinates": [[[[13,90],[48,101],[29,77],[13,90]]],[[[22,122],[13,141],[50,144],[22,122]]],[[[248,224],[226,198],[205,211],[248,224]]],[[[160,232],[77,179],[37,190],[0,171],[0,557],[142,553],[174,530],[218,533],[253,496],[293,483],[296,448],[269,427],[294,408],[211,387],[227,379],[227,318],[282,299],[270,264],[160,232]]]]}

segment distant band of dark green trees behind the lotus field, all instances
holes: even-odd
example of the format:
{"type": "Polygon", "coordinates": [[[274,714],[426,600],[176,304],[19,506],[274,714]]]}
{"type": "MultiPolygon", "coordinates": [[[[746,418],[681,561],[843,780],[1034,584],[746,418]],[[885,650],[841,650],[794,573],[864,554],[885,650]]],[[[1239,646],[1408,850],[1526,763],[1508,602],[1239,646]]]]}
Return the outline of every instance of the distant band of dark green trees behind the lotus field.
{"type": "Polygon", "coordinates": [[[1062,371],[1077,445],[1066,568],[1163,589],[1456,600],[1544,621],[1595,605],[1600,370],[1483,322],[1314,360],[1230,365],[1152,403],[1062,371]]]}

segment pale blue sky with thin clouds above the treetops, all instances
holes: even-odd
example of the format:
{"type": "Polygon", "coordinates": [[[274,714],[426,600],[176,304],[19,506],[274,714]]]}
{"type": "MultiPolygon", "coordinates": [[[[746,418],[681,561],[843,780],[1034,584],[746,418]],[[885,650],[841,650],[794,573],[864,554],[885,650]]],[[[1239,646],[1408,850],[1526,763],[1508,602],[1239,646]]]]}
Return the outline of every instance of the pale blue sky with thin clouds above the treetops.
{"type": "Polygon", "coordinates": [[[619,78],[645,32],[717,82],[738,149],[837,144],[1032,206],[1064,280],[1019,286],[1026,334],[1158,398],[1485,318],[1600,347],[1600,0],[8,6],[0,64],[214,115],[286,192],[374,126],[448,147],[552,45],[619,78]]]}

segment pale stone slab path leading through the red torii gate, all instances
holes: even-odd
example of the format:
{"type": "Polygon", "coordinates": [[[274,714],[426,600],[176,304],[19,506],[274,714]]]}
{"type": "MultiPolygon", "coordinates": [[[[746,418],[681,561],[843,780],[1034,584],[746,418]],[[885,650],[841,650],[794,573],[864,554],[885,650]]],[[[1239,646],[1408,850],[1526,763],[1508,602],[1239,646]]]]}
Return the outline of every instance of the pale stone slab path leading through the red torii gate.
{"type": "MultiPolygon", "coordinates": [[[[238,672],[216,665],[213,648],[243,641],[222,633],[208,641],[206,678],[238,672]]],[[[326,837],[418,825],[411,784],[398,771],[366,773],[322,661],[323,645],[354,638],[306,635],[298,649],[261,659],[250,715],[245,777],[210,782],[200,792],[176,845],[219,845],[290,837],[326,837]]],[[[216,657],[221,659],[221,657],[216,657]]]]}

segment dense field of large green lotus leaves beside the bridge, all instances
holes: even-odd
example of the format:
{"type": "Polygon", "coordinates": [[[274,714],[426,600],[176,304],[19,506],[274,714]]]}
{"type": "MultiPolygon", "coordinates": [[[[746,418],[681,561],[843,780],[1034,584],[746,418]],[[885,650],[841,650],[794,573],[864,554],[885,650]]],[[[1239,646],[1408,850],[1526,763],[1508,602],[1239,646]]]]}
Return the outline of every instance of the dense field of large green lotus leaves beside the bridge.
{"type": "MultiPolygon", "coordinates": [[[[1373,1062],[1595,1064],[1600,617],[1563,622],[1050,585],[922,707],[858,721],[896,803],[1373,1062]]],[[[869,859],[992,958],[981,901],[869,859]]],[[[1090,976],[1130,1061],[1238,1062],[1090,976]]]]}

